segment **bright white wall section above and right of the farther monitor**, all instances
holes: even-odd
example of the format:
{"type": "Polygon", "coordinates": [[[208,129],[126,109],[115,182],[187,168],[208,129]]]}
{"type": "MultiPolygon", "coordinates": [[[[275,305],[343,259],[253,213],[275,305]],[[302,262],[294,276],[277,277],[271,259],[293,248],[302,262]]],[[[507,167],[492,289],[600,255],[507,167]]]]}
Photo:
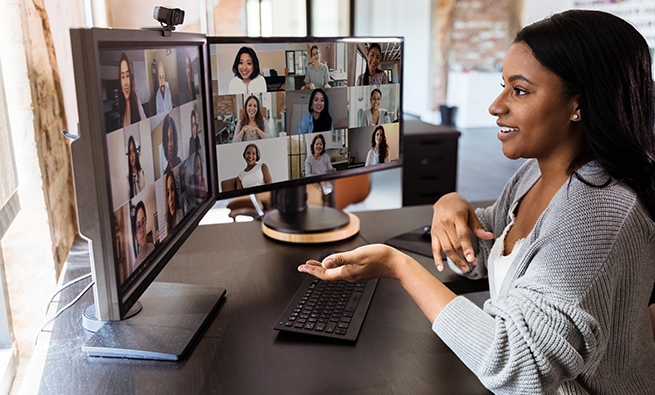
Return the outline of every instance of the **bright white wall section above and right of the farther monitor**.
{"type": "Polygon", "coordinates": [[[430,0],[357,0],[356,36],[405,37],[403,111],[423,114],[432,104],[430,0]]]}

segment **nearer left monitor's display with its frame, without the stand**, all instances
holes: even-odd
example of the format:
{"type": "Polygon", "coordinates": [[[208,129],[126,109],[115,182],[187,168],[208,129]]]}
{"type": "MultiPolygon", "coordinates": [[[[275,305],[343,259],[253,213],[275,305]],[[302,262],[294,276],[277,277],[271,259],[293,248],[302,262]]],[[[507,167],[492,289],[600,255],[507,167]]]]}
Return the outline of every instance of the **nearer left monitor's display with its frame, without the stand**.
{"type": "Polygon", "coordinates": [[[96,304],[115,320],[213,203],[206,40],[103,29],[71,38],[78,45],[81,130],[72,151],[80,228],[94,242],[96,304]],[[91,190],[87,168],[98,194],[91,208],[80,203],[91,190]]]}

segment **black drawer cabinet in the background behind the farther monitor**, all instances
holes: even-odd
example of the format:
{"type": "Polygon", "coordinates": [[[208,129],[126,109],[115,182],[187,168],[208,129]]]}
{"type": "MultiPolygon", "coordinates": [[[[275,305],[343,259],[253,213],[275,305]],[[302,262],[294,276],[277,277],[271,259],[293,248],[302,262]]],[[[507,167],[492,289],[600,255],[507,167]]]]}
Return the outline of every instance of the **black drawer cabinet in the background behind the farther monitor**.
{"type": "Polygon", "coordinates": [[[457,140],[450,126],[406,120],[403,206],[433,204],[457,188],[457,140]]]}

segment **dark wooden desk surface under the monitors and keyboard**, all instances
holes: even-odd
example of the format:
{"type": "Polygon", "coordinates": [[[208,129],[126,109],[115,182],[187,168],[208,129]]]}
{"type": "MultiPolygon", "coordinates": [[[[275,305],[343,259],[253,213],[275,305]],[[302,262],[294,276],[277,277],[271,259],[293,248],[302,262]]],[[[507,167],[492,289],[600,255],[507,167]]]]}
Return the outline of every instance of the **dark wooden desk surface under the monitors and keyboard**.
{"type": "MultiPolygon", "coordinates": [[[[81,347],[89,333],[82,329],[81,313],[93,301],[89,292],[40,335],[22,389],[43,394],[488,394],[392,280],[378,284],[354,344],[272,329],[305,276],[296,271],[300,263],[324,250],[382,242],[425,225],[431,208],[357,214],[360,234],[327,245],[270,240],[259,222],[199,226],[158,277],[227,289],[215,319],[186,360],[87,357],[81,347]]],[[[452,273],[437,274],[431,259],[416,257],[442,281],[462,281],[452,273]]],[[[69,255],[67,279],[88,273],[88,259],[85,243],[77,243],[69,255]]],[[[65,291],[60,306],[84,283],[65,291]]]]}

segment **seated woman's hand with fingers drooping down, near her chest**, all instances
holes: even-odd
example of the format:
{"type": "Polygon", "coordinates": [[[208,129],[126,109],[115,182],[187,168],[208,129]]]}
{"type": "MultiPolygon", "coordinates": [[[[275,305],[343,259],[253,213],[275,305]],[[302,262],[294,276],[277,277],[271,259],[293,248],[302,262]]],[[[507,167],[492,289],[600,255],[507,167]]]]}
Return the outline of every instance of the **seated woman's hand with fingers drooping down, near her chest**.
{"type": "Polygon", "coordinates": [[[441,260],[443,250],[457,267],[467,272],[469,264],[477,264],[469,229],[477,237],[485,240],[493,239],[494,234],[482,229],[482,224],[471,204],[456,192],[442,196],[432,209],[432,255],[437,270],[443,270],[441,260]]]}

